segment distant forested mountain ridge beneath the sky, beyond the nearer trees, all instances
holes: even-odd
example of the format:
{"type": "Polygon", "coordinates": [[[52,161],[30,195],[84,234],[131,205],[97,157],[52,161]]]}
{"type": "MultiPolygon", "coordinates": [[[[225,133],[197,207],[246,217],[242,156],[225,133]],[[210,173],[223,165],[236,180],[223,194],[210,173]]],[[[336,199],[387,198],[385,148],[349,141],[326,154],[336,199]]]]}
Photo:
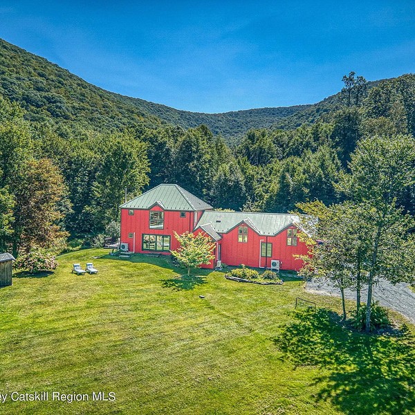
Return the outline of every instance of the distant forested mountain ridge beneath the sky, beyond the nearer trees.
{"type": "Polygon", "coordinates": [[[291,129],[315,122],[337,101],[318,104],[248,109],[228,113],[194,113],[104,91],[42,57],[0,39],[0,96],[18,102],[30,120],[108,130],[142,122],[146,127],[169,123],[183,128],[205,124],[227,142],[239,142],[251,128],[291,129]]]}

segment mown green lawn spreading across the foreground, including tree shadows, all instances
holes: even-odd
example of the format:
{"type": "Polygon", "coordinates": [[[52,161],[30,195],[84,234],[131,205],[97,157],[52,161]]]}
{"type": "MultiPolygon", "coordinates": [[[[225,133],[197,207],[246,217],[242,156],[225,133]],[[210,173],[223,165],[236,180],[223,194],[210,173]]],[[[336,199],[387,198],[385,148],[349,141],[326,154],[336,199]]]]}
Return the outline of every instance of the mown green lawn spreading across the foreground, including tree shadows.
{"type": "Polygon", "coordinates": [[[113,391],[116,400],[0,403],[4,414],[411,414],[412,327],[366,336],[340,302],[282,286],[180,277],[165,259],[62,255],[0,289],[0,394],[113,391]],[[98,257],[93,259],[93,257],[98,257]],[[94,261],[98,275],[71,264],[94,261]],[[199,295],[205,296],[204,299],[199,295]],[[317,313],[295,313],[295,298],[317,313]]]}

